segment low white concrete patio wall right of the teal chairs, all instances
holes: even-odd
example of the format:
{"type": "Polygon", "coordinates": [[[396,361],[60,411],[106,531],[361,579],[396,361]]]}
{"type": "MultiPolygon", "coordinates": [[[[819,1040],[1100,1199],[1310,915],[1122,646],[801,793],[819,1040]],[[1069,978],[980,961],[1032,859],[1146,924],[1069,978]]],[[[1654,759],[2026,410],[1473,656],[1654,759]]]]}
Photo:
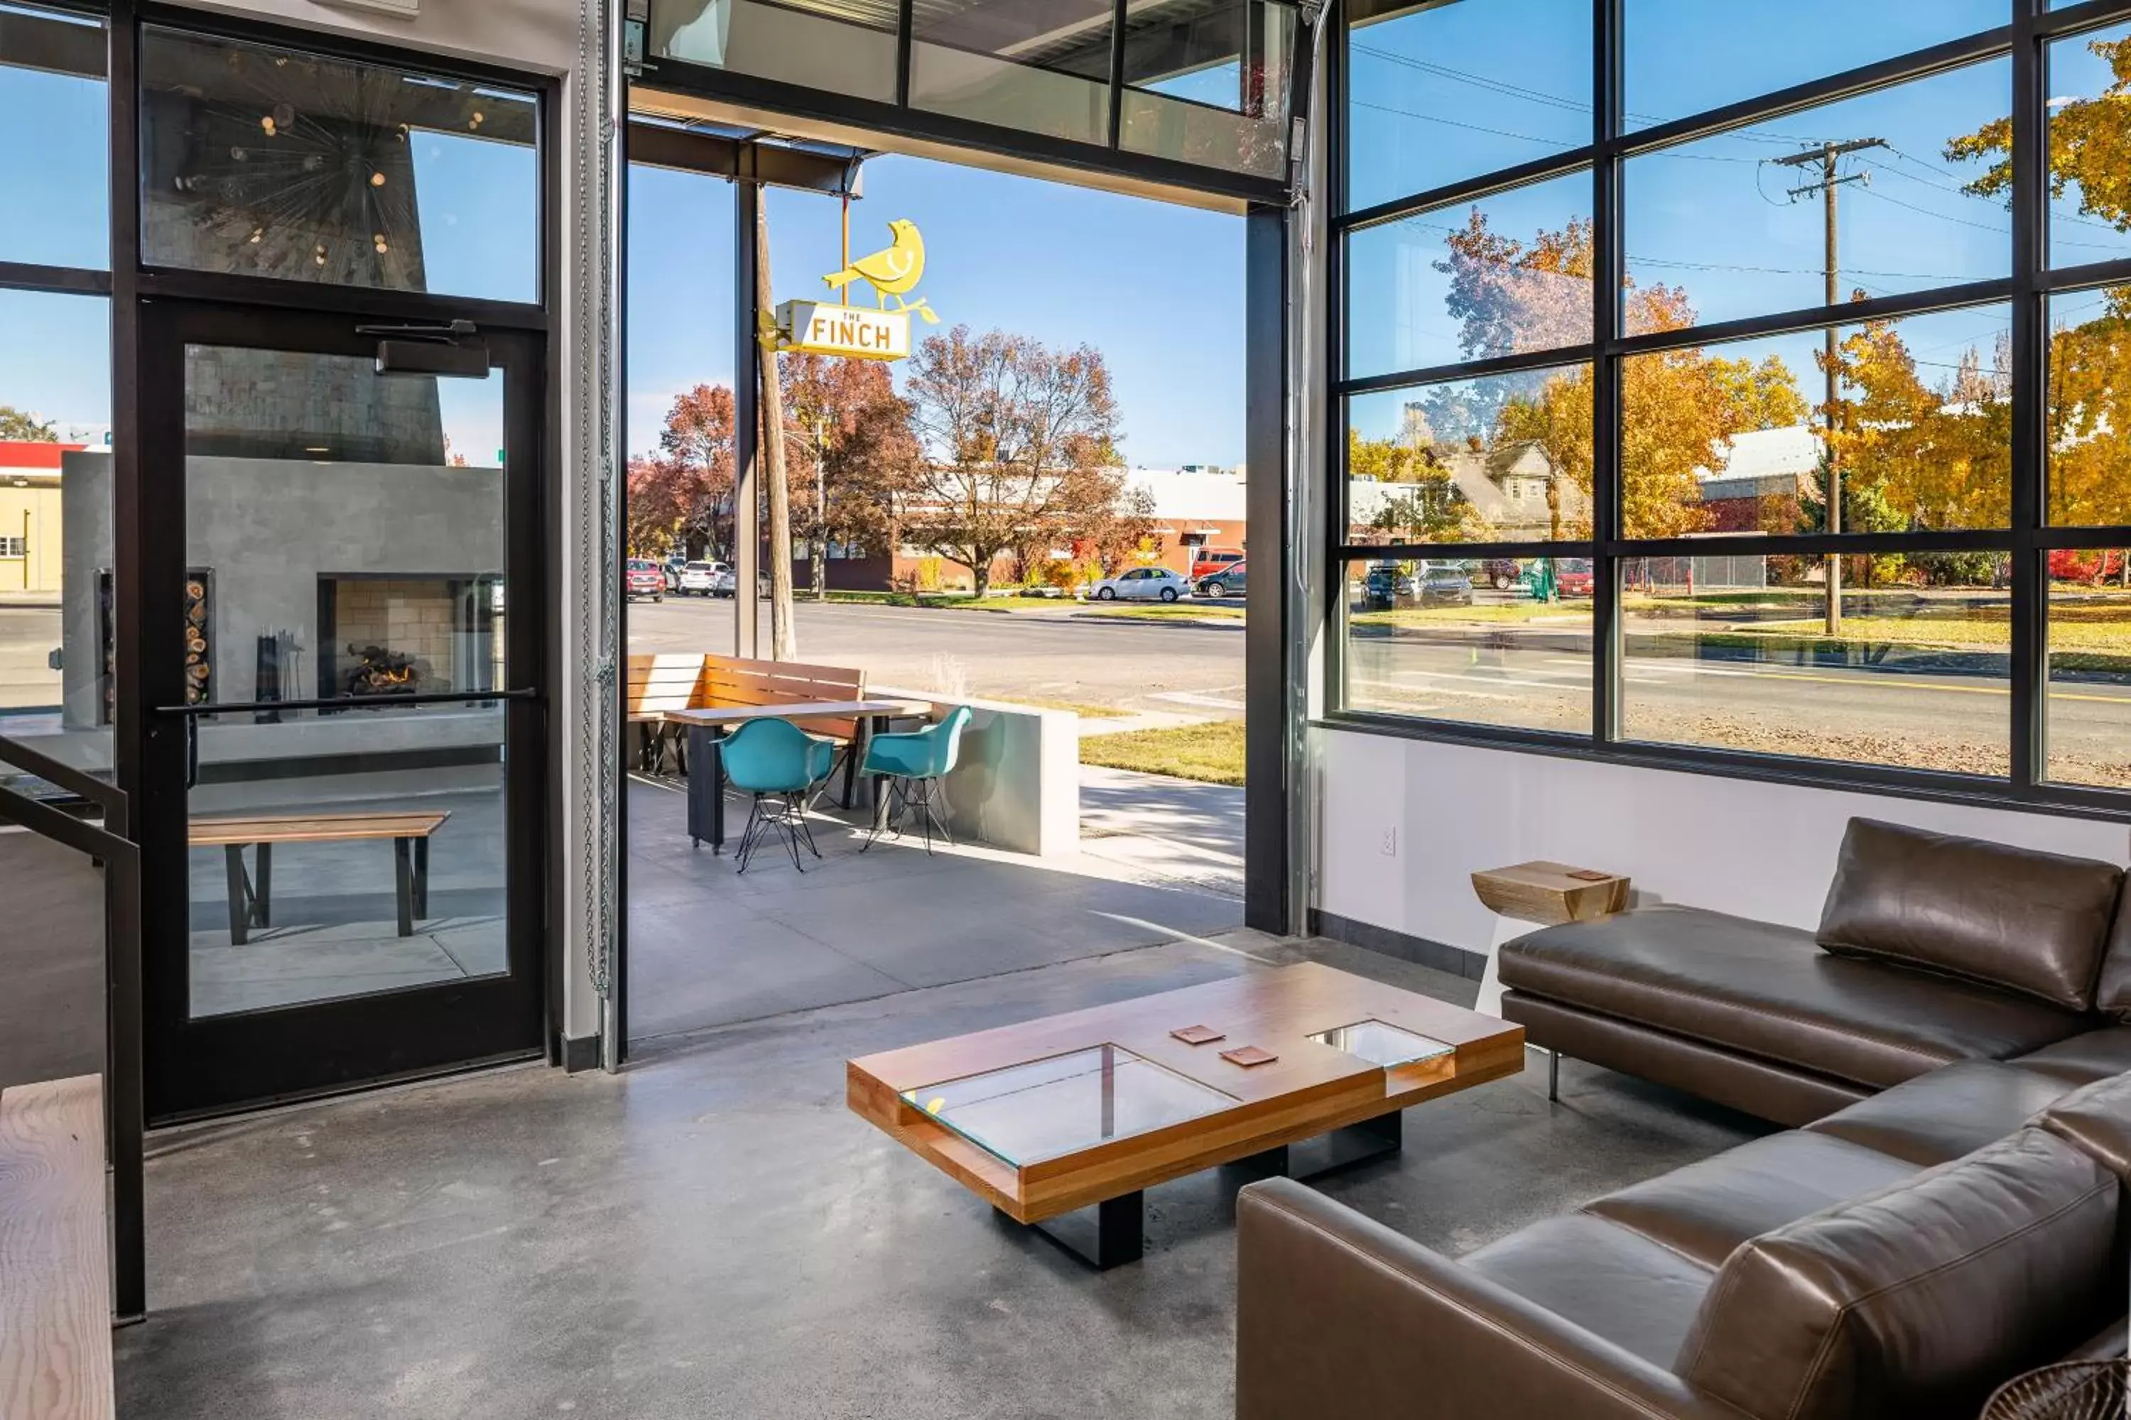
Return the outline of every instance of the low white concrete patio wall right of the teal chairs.
{"type": "Polygon", "coordinates": [[[1040,858],[1080,852],[1080,715],[1006,700],[940,700],[869,686],[869,696],[927,700],[933,720],[970,707],[955,773],[946,777],[948,830],[1040,858]]]}

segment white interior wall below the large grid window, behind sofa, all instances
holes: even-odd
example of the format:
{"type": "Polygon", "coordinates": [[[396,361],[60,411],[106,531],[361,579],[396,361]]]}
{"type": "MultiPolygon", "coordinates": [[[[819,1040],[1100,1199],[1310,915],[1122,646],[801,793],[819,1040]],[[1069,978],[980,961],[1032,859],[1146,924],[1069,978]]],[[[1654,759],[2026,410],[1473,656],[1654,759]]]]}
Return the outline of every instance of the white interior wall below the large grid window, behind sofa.
{"type": "Polygon", "coordinates": [[[1628,873],[1637,901],[1811,928],[1852,815],[2125,862],[2122,824],[1598,764],[1349,730],[1321,741],[1317,907],[1485,952],[1479,869],[1551,858],[1628,873]],[[1385,830],[1396,856],[1383,856],[1385,830]]]}

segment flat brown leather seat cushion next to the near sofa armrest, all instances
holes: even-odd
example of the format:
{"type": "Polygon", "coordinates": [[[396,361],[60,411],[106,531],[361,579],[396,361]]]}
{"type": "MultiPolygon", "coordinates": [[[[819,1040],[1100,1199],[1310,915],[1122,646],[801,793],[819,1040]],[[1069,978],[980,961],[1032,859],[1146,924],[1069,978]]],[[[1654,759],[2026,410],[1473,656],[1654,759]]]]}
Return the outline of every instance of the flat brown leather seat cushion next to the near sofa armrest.
{"type": "Polygon", "coordinates": [[[1713,1275],[1585,1213],[1534,1222],[1460,1262],[1660,1369],[1679,1356],[1713,1275]]]}

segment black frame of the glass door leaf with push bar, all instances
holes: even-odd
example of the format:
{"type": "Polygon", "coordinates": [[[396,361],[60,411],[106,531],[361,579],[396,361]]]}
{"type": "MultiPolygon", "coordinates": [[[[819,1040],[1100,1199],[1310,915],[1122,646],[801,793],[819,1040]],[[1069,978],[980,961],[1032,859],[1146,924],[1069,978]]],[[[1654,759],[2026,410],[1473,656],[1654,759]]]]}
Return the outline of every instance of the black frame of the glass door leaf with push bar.
{"type": "MultiPolygon", "coordinates": [[[[228,345],[369,358],[377,336],[343,311],[151,298],[143,304],[141,513],[158,534],[139,564],[141,611],[177,607],[185,579],[185,347],[228,345]]],[[[546,607],[543,336],[484,332],[503,370],[505,577],[514,607],[546,607]]],[[[153,615],[143,615],[153,626],[153,615]]],[[[164,617],[164,624],[168,617],[164,617]]],[[[183,654],[151,637],[130,694],[147,713],[149,756],[134,826],[143,903],[147,1116],[170,1122],[437,1071],[546,1054],[548,726],[543,615],[505,617],[505,860],[509,973],[266,1011],[190,1013],[188,720],[183,654]],[[179,911],[188,907],[188,911],[179,911]]]]}

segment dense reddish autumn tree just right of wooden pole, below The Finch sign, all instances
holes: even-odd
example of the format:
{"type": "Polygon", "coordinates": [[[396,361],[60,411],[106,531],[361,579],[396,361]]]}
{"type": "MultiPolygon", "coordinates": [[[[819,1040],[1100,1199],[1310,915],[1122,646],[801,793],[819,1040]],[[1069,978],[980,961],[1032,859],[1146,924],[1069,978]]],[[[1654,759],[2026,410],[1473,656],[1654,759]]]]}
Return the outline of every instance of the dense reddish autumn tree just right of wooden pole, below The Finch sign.
{"type": "Polygon", "coordinates": [[[878,360],[778,356],[791,432],[793,509],[806,534],[814,596],[827,592],[829,543],[895,556],[897,500],[916,490],[910,402],[878,360]]]}

